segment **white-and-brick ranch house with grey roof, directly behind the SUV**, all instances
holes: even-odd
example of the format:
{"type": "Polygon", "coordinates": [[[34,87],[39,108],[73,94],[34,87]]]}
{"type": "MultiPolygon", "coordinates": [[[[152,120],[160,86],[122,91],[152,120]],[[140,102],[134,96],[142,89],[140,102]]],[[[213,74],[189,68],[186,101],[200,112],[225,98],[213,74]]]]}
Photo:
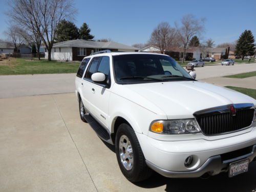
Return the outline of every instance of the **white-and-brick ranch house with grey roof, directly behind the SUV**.
{"type": "MultiPolygon", "coordinates": [[[[83,57],[91,53],[109,49],[111,51],[138,51],[138,48],[119,44],[118,42],[99,42],[83,39],[75,39],[57,42],[53,45],[51,58],[53,60],[82,60],[83,57]]],[[[45,58],[48,58],[48,52],[45,49],[45,58]]]]}

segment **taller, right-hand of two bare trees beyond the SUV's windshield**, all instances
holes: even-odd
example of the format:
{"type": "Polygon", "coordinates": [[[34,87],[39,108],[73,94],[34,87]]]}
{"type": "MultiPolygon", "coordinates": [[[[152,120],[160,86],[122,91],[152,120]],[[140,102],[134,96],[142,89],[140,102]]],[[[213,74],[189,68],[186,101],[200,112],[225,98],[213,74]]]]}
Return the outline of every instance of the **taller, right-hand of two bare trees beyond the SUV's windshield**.
{"type": "Polygon", "coordinates": [[[197,19],[194,15],[188,14],[182,17],[180,26],[176,23],[178,40],[183,48],[182,62],[185,60],[186,50],[191,38],[195,35],[200,36],[204,32],[204,20],[204,18],[197,19]]]}

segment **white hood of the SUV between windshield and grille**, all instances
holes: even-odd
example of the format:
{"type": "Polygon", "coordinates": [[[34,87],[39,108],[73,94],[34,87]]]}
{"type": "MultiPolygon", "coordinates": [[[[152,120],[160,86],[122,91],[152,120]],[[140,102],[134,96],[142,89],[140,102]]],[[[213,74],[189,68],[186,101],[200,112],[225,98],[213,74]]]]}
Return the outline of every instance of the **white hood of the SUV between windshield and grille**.
{"type": "MultiPolygon", "coordinates": [[[[231,103],[253,103],[242,93],[200,81],[118,84],[116,94],[168,119],[193,118],[196,111],[231,103]]],[[[113,90],[113,91],[114,91],[113,90]]],[[[115,92],[115,91],[114,91],[115,92]]]]}

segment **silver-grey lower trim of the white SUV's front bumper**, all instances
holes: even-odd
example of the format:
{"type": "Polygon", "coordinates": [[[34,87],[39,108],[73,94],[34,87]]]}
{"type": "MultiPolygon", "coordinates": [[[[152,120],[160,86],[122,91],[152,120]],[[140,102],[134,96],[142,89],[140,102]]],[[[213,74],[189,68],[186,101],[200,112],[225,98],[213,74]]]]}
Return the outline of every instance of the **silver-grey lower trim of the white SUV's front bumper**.
{"type": "Polygon", "coordinates": [[[160,168],[156,166],[155,164],[149,162],[146,160],[147,166],[155,170],[155,172],[159,173],[160,175],[164,177],[169,178],[197,178],[201,177],[204,174],[208,174],[210,176],[217,175],[221,172],[227,172],[229,163],[232,163],[234,161],[239,161],[242,159],[249,159],[249,162],[256,160],[256,145],[252,146],[252,151],[248,154],[245,154],[243,156],[239,156],[236,158],[232,158],[229,160],[222,161],[221,155],[212,156],[198,169],[186,171],[186,172],[173,172],[170,170],[165,170],[163,168],[160,168]]]}

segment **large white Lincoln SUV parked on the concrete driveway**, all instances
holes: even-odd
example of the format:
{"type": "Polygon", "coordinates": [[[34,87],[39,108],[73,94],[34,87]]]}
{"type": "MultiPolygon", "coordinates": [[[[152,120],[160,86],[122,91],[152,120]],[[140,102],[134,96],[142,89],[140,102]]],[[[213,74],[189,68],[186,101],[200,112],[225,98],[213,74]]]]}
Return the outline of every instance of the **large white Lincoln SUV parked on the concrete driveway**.
{"type": "Polygon", "coordinates": [[[162,54],[102,51],[82,60],[80,117],[115,145],[131,182],[152,170],[170,178],[233,177],[256,160],[256,100],[192,76],[162,54]]]}

